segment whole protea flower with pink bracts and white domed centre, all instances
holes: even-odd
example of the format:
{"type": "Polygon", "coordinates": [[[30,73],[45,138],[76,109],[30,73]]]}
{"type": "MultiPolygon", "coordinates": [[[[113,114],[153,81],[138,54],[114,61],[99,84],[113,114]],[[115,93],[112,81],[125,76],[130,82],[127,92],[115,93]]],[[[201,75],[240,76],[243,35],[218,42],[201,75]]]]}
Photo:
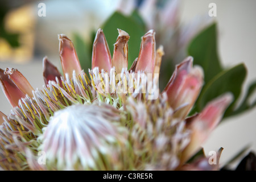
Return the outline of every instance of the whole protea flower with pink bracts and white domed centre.
{"type": "Polygon", "coordinates": [[[1,113],[2,169],[218,169],[201,165],[205,156],[186,163],[218,125],[232,96],[226,93],[189,115],[203,86],[203,71],[193,67],[193,58],[176,66],[159,93],[164,52],[156,50],[154,30],[142,37],[130,69],[129,34],[118,32],[112,57],[103,31],[97,31],[89,75],[65,35],[59,35],[63,75],[44,57],[42,89],[34,90],[16,69],[0,70],[13,106],[10,115],[1,113]]]}

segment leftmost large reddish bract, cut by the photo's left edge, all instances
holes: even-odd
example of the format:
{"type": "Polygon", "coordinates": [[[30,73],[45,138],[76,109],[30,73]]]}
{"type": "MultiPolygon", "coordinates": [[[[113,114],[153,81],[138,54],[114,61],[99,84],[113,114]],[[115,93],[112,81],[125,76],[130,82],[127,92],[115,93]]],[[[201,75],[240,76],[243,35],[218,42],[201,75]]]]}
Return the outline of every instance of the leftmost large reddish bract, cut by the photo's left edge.
{"type": "Polygon", "coordinates": [[[10,102],[11,106],[18,106],[19,99],[25,97],[26,94],[23,93],[17,85],[9,78],[8,75],[5,75],[2,69],[0,69],[0,82],[2,90],[5,93],[6,98],[10,102]]]}

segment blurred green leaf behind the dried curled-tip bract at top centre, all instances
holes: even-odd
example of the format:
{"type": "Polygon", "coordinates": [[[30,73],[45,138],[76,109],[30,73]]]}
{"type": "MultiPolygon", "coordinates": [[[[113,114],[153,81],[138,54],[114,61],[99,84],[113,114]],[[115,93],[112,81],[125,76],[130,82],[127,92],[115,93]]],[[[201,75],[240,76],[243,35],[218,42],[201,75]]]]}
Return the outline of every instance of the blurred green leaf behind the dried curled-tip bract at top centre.
{"type": "Polygon", "coordinates": [[[115,12],[112,16],[110,16],[108,20],[106,20],[104,25],[101,27],[104,31],[112,55],[114,50],[114,43],[118,37],[117,28],[126,31],[130,35],[130,39],[128,42],[128,68],[131,67],[131,64],[133,64],[133,61],[139,55],[141,37],[144,35],[144,29],[142,24],[138,23],[138,20],[134,19],[134,16],[132,18],[115,12]]]}

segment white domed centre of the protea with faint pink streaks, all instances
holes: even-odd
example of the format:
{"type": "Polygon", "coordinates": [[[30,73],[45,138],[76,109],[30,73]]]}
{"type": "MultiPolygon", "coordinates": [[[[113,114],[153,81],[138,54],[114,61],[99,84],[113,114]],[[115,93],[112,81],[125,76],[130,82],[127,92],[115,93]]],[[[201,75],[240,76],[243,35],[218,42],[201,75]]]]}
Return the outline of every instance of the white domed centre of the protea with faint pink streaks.
{"type": "Polygon", "coordinates": [[[51,162],[47,166],[124,169],[120,163],[122,150],[128,148],[127,129],[120,121],[118,110],[109,105],[72,105],[56,111],[40,137],[51,162]]]}

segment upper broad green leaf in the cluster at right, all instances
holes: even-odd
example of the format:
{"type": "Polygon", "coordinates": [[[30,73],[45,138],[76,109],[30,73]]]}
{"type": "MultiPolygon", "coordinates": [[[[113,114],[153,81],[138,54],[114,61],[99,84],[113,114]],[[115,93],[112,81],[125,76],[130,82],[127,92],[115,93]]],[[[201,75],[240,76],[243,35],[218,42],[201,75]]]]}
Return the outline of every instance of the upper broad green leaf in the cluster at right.
{"type": "Polygon", "coordinates": [[[188,54],[194,58],[194,65],[200,65],[204,69],[205,83],[222,71],[217,53],[217,25],[213,23],[188,46],[188,54]]]}

